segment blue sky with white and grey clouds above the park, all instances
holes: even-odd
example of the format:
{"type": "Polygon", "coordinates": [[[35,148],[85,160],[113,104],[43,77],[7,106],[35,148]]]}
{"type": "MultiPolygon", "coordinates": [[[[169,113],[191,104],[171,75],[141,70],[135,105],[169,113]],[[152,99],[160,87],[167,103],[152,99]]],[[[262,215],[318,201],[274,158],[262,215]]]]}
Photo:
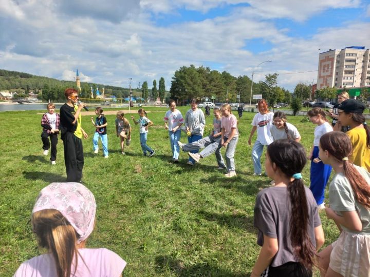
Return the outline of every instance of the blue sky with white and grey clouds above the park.
{"type": "Polygon", "coordinates": [[[0,69],[59,80],[169,90],[193,64],[293,91],[347,46],[370,48],[370,0],[0,0],[0,69]]]}

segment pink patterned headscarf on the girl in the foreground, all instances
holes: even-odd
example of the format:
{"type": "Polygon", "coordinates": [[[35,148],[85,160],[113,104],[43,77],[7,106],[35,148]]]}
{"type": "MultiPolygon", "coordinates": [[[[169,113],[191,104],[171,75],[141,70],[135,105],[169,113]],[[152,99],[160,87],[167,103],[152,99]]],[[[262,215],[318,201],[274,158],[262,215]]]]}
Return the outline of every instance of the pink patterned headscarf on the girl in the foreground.
{"type": "Polygon", "coordinates": [[[93,232],[95,197],[80,183],[51,183],[43,188],[36,199],[32,214],[46,209],[60,211],[80,235],[78,243],[85,241],[93,232]]]}

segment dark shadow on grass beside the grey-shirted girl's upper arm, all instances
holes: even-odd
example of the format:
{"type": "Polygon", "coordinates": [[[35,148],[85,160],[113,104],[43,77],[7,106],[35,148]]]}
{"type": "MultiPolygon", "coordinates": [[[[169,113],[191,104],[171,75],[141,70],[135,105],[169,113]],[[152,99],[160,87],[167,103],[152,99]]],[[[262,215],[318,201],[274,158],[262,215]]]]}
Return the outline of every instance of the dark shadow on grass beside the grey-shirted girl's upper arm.
{"type": "Polygon", "coordinates": [[[239,228],[252,233],[256,232],[256,229],[253,227],[253,216],[247,216],[242,213],[215,213],[205,210],[200,210],[198,215],[208,221],[217,222],[218,225],[226,225],[229,228],[239,228]]]}

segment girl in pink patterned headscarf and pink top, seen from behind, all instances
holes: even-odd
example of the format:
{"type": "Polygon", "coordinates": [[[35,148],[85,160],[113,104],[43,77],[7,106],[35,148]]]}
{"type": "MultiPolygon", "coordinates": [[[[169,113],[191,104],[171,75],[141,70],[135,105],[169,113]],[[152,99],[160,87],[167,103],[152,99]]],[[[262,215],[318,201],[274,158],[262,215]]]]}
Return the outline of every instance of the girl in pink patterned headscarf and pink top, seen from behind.
{"type": "Polygon", "coordinates": [[[122,276],[126,262],[106,248],[85,248],[96,203],[79,183],[51,183],[32,210],[32,230],[46,254],[24,262],[15,277],[122,276]]]}

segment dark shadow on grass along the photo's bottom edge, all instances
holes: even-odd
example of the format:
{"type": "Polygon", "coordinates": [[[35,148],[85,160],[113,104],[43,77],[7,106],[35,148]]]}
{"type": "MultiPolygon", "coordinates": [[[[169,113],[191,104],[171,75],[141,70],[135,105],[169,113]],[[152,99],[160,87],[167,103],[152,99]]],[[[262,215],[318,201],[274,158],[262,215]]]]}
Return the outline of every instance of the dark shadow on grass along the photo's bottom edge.
{"type": "Polygon", "coordinates": [[[189,267],[172,256],[159,255],[155,258],[156,272],[158,274],[168,273],[171,271],[176,276],[228,276],[228,277],[241,277],[250,276],[249,274],[233,273],[230,270],[218,268],[217,265],[209,264],[208,262],[202,264],[195,264],[189,267]]]}

